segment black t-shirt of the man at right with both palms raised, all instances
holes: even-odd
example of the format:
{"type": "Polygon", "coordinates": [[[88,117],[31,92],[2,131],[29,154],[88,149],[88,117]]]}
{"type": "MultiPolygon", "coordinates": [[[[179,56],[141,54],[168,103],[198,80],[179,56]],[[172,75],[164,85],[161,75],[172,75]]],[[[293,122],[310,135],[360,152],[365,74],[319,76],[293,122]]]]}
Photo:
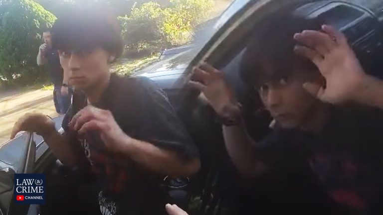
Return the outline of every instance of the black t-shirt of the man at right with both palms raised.
{"type": "Polygon", "coordinates": [[[376,214],[383,204],[382,112],[330,112],[320,135],[276,126],[255,146],[256,157],[270,165],[288,201],[309,214],[376,214]]]}

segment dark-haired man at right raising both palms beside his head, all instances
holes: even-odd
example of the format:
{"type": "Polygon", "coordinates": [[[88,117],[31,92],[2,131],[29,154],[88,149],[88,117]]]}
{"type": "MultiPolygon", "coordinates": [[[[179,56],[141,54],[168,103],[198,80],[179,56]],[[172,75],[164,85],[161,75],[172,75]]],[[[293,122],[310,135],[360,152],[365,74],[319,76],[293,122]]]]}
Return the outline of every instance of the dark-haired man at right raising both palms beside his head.
{"type": "Polygon", "coordinates": [[[382,214],[382,81],[365,74],[332,27],[292,17],[274,24],[257,30],[241,67],[276,122],[261,141],[251,139],[223,74],[206,63],[193,71],[191,85],[223,118],[232,162],[244,177],[273,182],[271,199],[295,213],[382,214]]]}

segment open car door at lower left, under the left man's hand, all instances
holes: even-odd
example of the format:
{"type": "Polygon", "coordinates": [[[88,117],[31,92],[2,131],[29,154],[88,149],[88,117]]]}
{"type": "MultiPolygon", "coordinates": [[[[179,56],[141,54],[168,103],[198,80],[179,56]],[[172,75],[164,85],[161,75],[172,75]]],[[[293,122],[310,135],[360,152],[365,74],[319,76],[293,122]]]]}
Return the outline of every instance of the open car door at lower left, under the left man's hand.
{"type": "MultiPolygon", "coordinates": [[[[53,118],[56,129],[61,127],[62,116],[53,118]]],[[[0,148],[0,214],[26,215],[29,205],[16,205],[13,193],[14,174],[43,173],[55,158],[41,136],[24,132],[0,148]]],[[[31,207],[29,213],[37,214],[31,207]]]]}

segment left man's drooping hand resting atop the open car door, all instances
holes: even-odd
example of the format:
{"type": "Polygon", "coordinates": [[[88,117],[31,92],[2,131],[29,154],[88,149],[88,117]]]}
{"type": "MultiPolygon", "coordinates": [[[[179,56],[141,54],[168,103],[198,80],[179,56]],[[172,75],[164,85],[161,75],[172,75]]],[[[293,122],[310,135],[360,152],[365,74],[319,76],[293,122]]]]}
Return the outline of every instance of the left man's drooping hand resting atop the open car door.
{"type": "Polygon", "coordinates": [[[20,131],[36,132],[38,135],[45,136],[55,130],[54,122],[48,116],[41,113],[26,113],[14,123],[10,139],[13,139],[20,131]]]}

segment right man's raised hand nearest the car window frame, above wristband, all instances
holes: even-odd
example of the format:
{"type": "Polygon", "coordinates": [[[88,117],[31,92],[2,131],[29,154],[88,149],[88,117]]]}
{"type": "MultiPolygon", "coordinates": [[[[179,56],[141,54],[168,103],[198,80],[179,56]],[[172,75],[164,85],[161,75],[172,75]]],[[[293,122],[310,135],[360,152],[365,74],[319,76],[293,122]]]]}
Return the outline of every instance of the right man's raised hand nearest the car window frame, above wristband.
{"type": "Polygon", "coordinates": [[[221,117],[230,117],[227,110],[235,108],[237,100],[222,72],[202,63],[193,68],[193,78],[197,81],[190,81],[190,85],[203,93],[215,112],[221,117]]]}

